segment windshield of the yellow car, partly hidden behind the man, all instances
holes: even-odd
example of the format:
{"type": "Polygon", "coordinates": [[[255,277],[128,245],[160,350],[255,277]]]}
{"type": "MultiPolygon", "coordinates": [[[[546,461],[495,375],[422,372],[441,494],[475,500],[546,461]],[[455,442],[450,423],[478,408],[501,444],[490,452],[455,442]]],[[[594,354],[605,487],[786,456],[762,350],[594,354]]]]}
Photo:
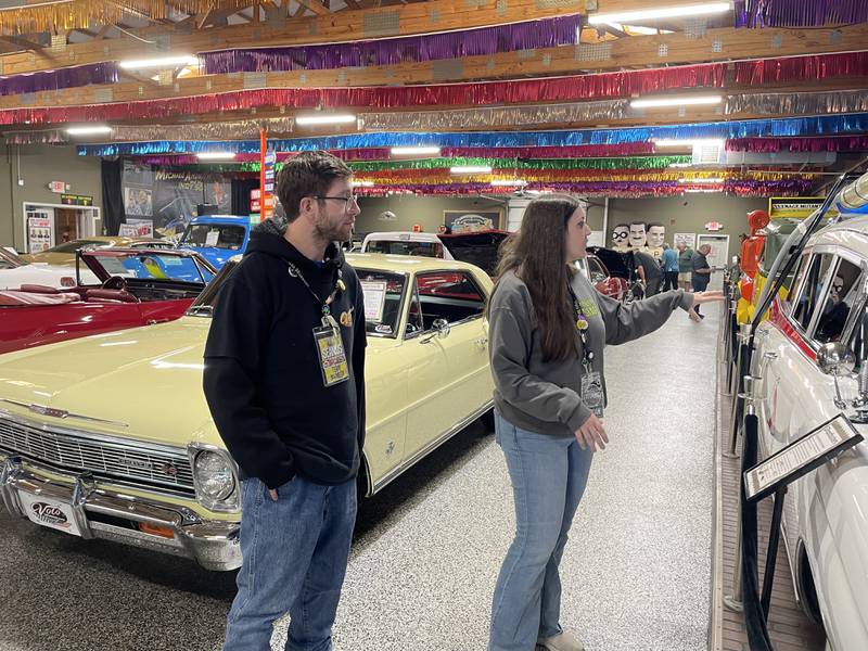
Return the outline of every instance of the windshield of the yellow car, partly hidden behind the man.
{"type": "MultiPolygon", "coordinates": [[[[209,317],[220,297],[220,286],[229,279],[240,260],[233,258],[224,265],[214,282],[209,283],[187,310],[189,316],[209,317]]],[[[395,337],[400,323],[407,278],[400,273],[356,267],[365,293],[366,331],[374,336],[395,337]]]]}

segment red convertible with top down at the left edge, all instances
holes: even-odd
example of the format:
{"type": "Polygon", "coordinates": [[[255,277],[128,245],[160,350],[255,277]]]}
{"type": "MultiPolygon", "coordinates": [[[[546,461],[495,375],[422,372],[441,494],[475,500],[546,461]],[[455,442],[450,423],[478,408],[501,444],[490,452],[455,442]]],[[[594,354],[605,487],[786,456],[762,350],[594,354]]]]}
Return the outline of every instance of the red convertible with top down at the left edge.
{"type": "Polygon", "coordinates": [[[177,319],[216,273],[191,251],[79,251],[75,286],[0,291],[0,353],[177,319]]]}

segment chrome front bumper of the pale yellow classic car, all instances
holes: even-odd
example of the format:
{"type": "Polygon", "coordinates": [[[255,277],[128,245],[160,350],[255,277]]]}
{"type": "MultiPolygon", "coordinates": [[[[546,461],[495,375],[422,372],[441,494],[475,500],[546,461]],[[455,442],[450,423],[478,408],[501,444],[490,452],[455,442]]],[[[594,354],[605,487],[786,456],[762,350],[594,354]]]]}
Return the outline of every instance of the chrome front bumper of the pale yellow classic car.
{"type": "MultiPolygon", "coordinates": [[[[62,475],[63,481],[40,474],[39,463],[0,455],[0,498],[10,513],[27,518],[20,494],[54,499],[72,506],[82,538],[102,538],[195,560],[206,570],[234,570],[241,566],[239,523],[202,520],[195,512],[119,492],[97,488],[89,473],[62,475]],[[100,522],[100,516],[131,523],[167,527],[173,538],[100,522]]],[[[46,468],[46,471],[49,469],[46,468]]]]}

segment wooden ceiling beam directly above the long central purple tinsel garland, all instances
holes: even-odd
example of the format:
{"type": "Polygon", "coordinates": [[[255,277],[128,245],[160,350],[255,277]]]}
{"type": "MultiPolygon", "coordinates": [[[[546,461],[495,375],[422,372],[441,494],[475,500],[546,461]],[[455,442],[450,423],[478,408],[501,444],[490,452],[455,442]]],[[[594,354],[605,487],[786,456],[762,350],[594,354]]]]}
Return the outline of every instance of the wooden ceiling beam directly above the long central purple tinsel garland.
{"type": "MultiPolygon", "coordinates": [[[[312,0],[311,0],[312,3],[312,0]]],[[[655,4],[682,5],[685,0],[656,0],[655,4]]],[[[647,0],[597,0],[599,11],[641,9],[647,0]]],[[[258,7],[258,5],[257,5],[258,7]]],[[[178,52],[205,52],[215,48],[261,48],[301,46],[322,42],[346,42],[386,36],[411,36],[432,31],[489,27],[535,18],[585,13],[585,2],[540,3],[537,0],[510,0],[500,11],[496,0],[455,2],[430,0],[405,7],[348,10],[321,16],[299,17],[272,28],[268,24],[233,25],[219,29],[170,34],[171,49],[178,52]],[[497,11],[496,11],[497,9],[497,11]]],[[[745,30],[748,31],[748,30],[745,30]]],[[[136,36],[145,41],[166,36],[166,26],[137,29],[136,36]]],[[[108,43],[75,43],[67,47],[63,62],[53,67],[82,65],[122,59],[141,59],[151,53],[149,43],[125,36],[108,43]]],[[[4,55],[7,75],[51,69],[27,55],[4,55]]]]}

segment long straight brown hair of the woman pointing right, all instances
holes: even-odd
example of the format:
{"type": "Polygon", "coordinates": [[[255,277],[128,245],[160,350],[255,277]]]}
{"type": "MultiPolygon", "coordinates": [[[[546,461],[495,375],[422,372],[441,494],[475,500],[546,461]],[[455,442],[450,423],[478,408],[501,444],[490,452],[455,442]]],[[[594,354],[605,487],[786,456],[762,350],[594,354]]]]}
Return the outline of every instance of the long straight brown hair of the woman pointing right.
{"type": "Polygon", "coordinates": [[[575,355],[575,322],[567,285],[572,269],[565,251],[566,224],[578,200],[569,194],[546,194],[524,210],[521,230],[500,247],[498,279],[514,270],[534,304],[545,361],[575,355]]]}

